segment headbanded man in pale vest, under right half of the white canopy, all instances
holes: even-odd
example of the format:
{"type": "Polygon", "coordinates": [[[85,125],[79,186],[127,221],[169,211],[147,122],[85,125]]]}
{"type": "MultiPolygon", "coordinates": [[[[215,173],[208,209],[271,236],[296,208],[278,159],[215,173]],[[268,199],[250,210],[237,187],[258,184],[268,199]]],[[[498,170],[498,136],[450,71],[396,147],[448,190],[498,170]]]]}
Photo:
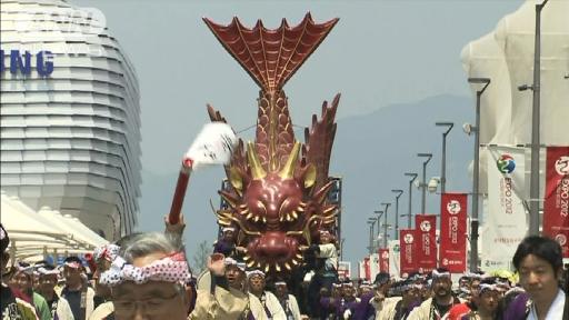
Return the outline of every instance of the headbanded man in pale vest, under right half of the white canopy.
{"type": "Polygon", "coordinates": [[[83,264],[78,257],[68,257],[63,261],[66,287],[61,291],[73,311],[76,320],[87,320],[94,310],[94,290],[87,286],[83,264]]]}

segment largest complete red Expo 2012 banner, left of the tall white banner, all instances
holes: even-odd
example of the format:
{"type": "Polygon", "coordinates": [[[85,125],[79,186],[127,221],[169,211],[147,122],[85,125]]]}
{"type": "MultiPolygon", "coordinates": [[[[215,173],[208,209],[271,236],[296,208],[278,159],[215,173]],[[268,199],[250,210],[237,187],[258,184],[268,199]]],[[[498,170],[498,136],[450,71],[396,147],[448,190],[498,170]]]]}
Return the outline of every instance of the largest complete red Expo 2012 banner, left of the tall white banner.
{"type": "Polygon", "coordinates": [[[440,201],[439,266],[452,273],[467,269],[467,197],[442,193],[440,201]]]}

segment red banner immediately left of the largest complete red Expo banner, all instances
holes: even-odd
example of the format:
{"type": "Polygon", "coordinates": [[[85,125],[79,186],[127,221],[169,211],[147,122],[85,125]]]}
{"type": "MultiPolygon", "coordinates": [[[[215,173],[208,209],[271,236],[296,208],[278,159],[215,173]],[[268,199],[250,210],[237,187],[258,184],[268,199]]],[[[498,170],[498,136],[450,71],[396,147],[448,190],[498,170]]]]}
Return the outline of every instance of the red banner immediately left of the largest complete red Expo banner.
{"type": "Polygon", "coordinates": [[[437,216],[417,214],[415,216],[415,226],[417,239],[416,254],[417,266],[425,272],[430,272],[437,268],[437,216]]]}

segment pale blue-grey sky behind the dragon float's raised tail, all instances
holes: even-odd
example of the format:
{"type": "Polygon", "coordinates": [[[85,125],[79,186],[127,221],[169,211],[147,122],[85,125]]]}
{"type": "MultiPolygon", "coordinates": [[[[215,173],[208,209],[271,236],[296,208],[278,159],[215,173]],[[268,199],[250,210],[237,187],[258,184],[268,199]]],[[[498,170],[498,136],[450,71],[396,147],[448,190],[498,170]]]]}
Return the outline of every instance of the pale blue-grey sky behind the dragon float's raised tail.
{"type": "MultiPolygon", "coordinates": [[[[104,13],[110,33],[120,41],[137,70],[142,110],[142,167],[147,172],[142,186],[144,192],[149,190],[149,183],[156,183],[148,177],[174,176],[179,170],[181,156],[201,126],[208,122],[206,103],[221,110],[236,130],[256,123],[257,86],[211,34],[202,17],[229,23],[233,16],[238,16],[246,26],[253,26],[260,18],[268,28],[278,27],[282,18],[287,18],[289,24],[296,24],[307,11],[317,22],[340,18],[315,54],[284,87],[292,120],[303,127],[312,113],[319,112],[322,101],[331,100],[337,92],[342,93],[339,119],[442,94],[470,98],[460,63],[461,49],[490,32],[503,16],[513,12],[523,1],[71,2],[96,7],[104,13]]],[[[428,126],[432,127],[432,123],[428,126]]],[[[433,139],[439,138],[433,136],[433,139]]],[[[192,196],[204,188],[201,181],[213,179],[214,186],[219,184],[222,170],[212,170],[214,172],[196,172],[194,176],[201,177],[192,177],[189,187],[190,199],[187,199],[184,211],[187,221],[192,224],[187,238],[190,251],[197,242],[211,240],[214,234],[210,213],[207,213],[207,223],[201,216],[192,216],[192,206],[197,201],[209,201],[192,196]],[[209,232],[198,230],[201,226],[209,232]]],[[[172,192],[174,183],[172,179],[172,192]]],[[[358,184],[351,187],[358,188],[358,184]]],[[[210,191],[211,197],[217,197],[217,190],[212,188],[210,191]]],[[[154,194],[143,193],[142,197],[146,201],[141,203],[153,202],[148,201],[148,197],[154,194]]],[[[160,201],[168,203],[170,200],[160,201]]],[[[200,203],[200,208],[207,206],[200,203]]],[[[169,207],[164,206],[161,212],[153,210],[141,208],[141,230],[162,229],[157,223],[169,207]]],[[[358,228],[348,229],[358,232],[358,228]]],[[[352,241],[350,246],[358,243],[352,241]]],[[[355,252],[359,256],[360,251],[355,252]]]]}

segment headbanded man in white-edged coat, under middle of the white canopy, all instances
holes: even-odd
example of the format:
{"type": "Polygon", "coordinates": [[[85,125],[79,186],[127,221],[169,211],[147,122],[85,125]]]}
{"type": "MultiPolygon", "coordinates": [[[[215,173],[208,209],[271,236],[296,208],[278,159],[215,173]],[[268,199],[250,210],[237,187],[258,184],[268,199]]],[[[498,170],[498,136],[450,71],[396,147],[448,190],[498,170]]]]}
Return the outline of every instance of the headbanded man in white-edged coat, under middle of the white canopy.
{"type": "Polygon", "coordinates": [[[39,273],[38,293],[48,302],[51,317],[58,320],[73,320],[69,302],[56,292],[59,270],[51,264],[43,264],[38,268],[37,272],[39,273]]]}

